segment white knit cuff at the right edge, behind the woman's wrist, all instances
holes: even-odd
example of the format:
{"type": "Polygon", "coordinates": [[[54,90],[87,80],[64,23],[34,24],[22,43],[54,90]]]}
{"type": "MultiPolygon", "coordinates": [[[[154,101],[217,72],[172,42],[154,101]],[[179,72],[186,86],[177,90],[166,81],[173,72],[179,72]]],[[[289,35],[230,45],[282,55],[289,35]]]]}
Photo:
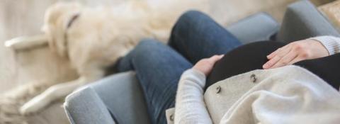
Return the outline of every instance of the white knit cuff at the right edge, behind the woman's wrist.
{"type": "Polygon", "coordinates": [[[334,36],[319,36],[310,38],[312,40],[317,40],[328,50],[329,55],[334,55],[340,52],[340,38],[334,36]]]}

